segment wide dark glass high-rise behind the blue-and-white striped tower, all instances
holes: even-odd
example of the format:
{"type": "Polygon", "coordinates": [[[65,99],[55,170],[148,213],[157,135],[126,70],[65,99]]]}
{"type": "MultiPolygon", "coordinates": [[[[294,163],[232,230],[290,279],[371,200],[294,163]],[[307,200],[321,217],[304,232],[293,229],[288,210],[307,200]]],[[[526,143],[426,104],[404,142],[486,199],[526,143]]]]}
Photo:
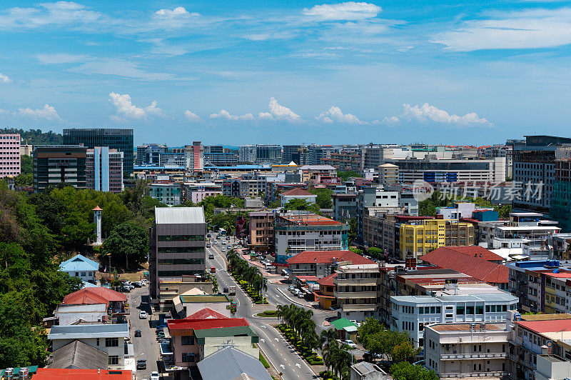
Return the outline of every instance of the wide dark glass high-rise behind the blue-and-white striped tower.
{"type": "Polygon", "coordinates": [[[84,144],[86,148],[108,146],[123,152],[123,175],[133,174],[133,129],[89,128],[64,129],[64,144],[84,144]]]}

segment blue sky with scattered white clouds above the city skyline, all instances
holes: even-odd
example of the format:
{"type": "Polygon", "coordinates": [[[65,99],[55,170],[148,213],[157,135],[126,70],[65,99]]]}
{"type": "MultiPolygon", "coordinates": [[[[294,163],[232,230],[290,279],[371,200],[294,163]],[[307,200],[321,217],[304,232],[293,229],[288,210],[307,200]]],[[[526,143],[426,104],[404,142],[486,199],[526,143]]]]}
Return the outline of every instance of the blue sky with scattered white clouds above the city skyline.
{"type": "Polygon", "coordinates": [[[0,125],[171,145],[569,136],[570,44],[569,1],[4,0],[0,125]]]}

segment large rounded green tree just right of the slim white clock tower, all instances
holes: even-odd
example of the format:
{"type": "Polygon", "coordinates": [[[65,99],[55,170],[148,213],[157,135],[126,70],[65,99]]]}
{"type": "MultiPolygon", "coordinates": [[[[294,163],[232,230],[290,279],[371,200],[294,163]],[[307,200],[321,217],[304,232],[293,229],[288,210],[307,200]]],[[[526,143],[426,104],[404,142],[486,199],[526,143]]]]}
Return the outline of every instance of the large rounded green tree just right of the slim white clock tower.
{"type": "Polygon", "coordinates": [[[129,264],[133,266],[146,261],[148,236],[141,227],[122,223],[111,231],[111,236],[103,242],[101,251],[105,255],[111,255],[113,265],[121,265],[119,263],[124,262],[125,268],[128,269],[129,264]]]}

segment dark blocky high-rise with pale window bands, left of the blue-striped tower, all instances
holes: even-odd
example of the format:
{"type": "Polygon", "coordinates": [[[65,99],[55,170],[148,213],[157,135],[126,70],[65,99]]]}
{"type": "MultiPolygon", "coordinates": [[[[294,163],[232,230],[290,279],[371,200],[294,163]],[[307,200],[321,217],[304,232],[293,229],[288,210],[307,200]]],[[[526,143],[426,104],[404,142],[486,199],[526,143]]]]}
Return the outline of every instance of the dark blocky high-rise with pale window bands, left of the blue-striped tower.
{"type": "Polygon", "coordinates": [[[87,148],[81,145],[39,145],[34,147],[34,191],[70,184],[86,189],[87,148]]]}

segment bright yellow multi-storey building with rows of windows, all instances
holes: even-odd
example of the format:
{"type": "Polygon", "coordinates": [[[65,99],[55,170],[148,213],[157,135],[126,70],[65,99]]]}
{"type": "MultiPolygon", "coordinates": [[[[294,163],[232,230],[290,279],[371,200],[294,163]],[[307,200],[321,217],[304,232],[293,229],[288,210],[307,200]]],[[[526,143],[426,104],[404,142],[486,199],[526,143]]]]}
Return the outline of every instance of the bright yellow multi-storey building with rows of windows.
{"type": "Polygon", "coordinates": [[[423,219],[400,224],[400,259],[441,246],[473,246],[474,226],[456,219],[423,219]]]}

